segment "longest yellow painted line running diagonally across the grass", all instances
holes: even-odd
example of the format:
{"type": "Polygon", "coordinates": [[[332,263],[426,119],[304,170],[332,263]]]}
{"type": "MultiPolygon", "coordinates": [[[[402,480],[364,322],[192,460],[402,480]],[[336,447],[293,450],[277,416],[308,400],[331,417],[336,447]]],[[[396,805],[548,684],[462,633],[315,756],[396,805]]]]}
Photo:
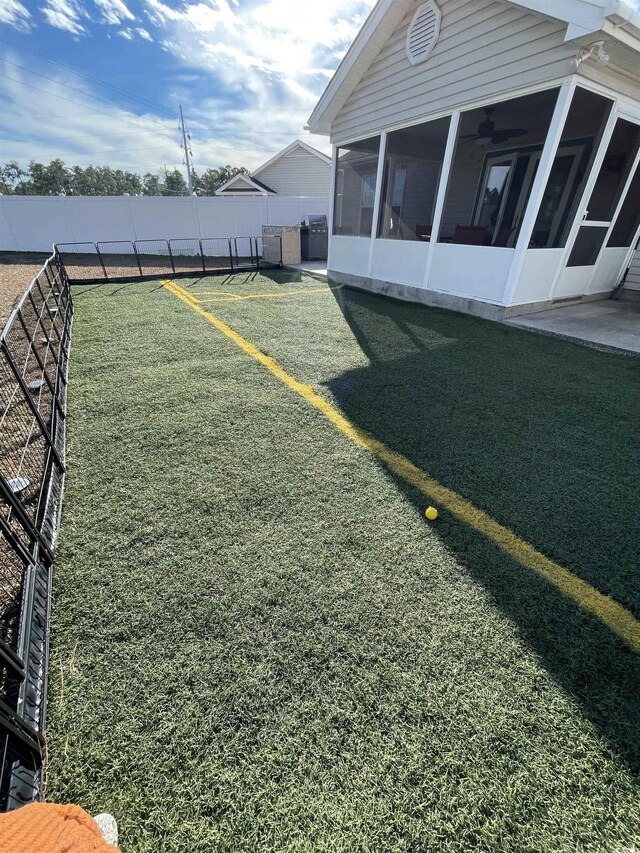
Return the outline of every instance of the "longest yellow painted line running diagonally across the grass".
{"type": "Polygon", "coordinates": [[[278,362],[265,355],[254,344],[227,326],[219,317],[200,306],[191,294],[172,281],[165,281],[164,286],[204,317],[219,332],[226,335],[236,346],[279,379],[284,385],[299,394],[311,406],[321,412],[344,435],[359,447],[373,453],[386,467],[418,491],[422,492],[434,503],[448,510],[452,515],[468,524],[478,533],[485,536],[502,551],[509,554],[521,565],[546,578],[568,598],[571,598],[594,616],[597,616],[614,634],[624,640],[634,651],[640,651],[640,621],[621,604],[599,592],[591,584],[574,575],[568,569],[554,563],[544,554],[537,551],[533,545],[525,542],[508,527],[499,524],[483,510],[474,506],[455,492],[443,486],[422,469],[414,465],[406,456],[391,450],[386,444],[370,436],[367,432],[351,423],[335,406],[321,397],[310,385],[298,382],[287,373],[278,362]]]}

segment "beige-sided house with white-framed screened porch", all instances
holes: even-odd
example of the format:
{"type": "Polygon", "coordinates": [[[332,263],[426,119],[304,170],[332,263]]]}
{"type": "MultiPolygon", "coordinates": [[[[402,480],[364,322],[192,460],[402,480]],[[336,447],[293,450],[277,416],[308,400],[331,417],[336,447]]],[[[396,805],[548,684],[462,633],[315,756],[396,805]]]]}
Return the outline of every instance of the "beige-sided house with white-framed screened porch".
{"type": "Polygon", "coordinates": [[[379,0],[308,127],[332,281],[496,319],[608,296],[640,227],[640,15],[379,0]]]}

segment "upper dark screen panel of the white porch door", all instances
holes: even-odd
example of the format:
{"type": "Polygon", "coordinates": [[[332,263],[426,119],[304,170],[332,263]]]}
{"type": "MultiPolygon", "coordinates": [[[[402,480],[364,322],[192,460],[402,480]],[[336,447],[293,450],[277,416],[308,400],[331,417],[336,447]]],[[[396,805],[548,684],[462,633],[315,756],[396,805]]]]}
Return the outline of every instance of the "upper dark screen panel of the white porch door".
{"type": "Polygon", "coordinates": [[[639,140],[640,125],[619,118],[587,204],[587,219],[611,222],[635,160],[639,140]]]}

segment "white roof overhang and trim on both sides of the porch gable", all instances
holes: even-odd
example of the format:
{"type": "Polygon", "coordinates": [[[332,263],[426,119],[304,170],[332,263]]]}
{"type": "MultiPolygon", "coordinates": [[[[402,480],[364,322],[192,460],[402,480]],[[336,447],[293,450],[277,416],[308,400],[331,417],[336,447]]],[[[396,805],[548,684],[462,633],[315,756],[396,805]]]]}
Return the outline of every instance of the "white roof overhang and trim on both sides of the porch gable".
{"type": "MultiPolygon", "coordinates": [[[[631,0],[504,2],[566,23],[565,41],[605,31],[608,38],[640,51],[640,14],[631,0]]],[[[415,0],[378,0],[309,117],[307,128],[312,133],[331,132],[333,120],[414,3],[415,0]]]]}

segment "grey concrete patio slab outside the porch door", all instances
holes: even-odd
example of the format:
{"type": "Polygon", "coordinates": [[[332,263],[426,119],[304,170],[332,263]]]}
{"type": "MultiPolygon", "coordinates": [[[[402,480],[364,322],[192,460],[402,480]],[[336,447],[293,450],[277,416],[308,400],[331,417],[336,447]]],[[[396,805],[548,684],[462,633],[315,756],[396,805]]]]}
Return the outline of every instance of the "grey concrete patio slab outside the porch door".
{"type": "Polygon", "coordinates": [[[640,302],[602,299],[524,314],[505,322],[587,346],[640,355],[640,302]]]}

